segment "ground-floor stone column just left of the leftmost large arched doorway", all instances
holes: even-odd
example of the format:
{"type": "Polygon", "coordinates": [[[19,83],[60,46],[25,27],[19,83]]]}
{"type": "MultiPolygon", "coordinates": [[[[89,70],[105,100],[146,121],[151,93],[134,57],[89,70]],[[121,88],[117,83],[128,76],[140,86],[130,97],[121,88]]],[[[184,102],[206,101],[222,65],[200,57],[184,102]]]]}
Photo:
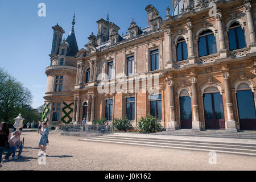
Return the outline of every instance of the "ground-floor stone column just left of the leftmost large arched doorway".
{"type": "Polygon", "coordinates": [[[170,98],[170,122],[168,122],[168,130],[177,130],[179,125],[175,120],[175,104],[174,104],[174,81],[169,80],[169,98],[170,98]]]}

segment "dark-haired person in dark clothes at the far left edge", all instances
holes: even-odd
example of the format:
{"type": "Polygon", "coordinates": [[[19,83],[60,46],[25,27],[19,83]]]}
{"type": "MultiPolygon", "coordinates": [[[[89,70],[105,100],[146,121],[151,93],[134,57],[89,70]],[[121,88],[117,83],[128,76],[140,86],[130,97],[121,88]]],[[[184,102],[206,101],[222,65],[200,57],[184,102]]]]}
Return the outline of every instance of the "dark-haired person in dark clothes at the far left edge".
{"type": "Polygon", "coordinates": [[[5,150],[9,150],[9,142],[8,140],[11,139],[11,133],[7,122],[2,122],[0,124],[0,168],[2,167],[2,155],[5,150]]]}

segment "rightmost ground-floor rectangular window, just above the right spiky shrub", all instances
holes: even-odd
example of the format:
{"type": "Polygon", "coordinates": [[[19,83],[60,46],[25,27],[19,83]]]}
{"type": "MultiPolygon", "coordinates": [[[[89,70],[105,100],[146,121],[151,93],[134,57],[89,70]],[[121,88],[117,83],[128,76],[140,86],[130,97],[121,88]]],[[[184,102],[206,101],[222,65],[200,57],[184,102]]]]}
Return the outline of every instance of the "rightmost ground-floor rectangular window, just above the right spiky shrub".
{"type": "Polygon", "coordinates": [[[162,119],[162,95],[150,96],[150,114],[162,119]]]}

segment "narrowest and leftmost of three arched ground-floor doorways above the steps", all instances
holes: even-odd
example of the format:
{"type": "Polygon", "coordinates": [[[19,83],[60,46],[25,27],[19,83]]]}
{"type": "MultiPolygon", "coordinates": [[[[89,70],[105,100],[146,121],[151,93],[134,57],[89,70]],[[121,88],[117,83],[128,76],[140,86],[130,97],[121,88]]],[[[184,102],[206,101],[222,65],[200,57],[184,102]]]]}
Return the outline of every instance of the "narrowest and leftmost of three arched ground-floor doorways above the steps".
{"type": "Polygon", "coordinates": [[[186,89],[179,94],[180,101],[180,128],[192,129],[192,107],[191,97],[186,89]]]}

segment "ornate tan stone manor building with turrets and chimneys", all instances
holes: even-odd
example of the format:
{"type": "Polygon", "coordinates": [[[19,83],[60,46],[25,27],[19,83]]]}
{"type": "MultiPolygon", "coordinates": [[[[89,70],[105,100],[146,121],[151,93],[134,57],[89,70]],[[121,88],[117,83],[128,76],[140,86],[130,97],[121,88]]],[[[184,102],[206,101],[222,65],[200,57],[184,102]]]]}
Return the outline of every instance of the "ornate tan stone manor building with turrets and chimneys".
{"type": "Polygon", "coordinates": [[[173,7],[162,19],[148,5],[148,27],[133,20],[127,35],[100,19],[80,51],[75,16],[67,40],[52,27],[44,121],[127,117],[136,126],[151,114],[168,130],[256,130],[256,1],[174,0],[173,7]],[[148,77],[159,81],[150,87],[148,77]],[[126,81],[131,89],[118,92],[126,81]]]}

